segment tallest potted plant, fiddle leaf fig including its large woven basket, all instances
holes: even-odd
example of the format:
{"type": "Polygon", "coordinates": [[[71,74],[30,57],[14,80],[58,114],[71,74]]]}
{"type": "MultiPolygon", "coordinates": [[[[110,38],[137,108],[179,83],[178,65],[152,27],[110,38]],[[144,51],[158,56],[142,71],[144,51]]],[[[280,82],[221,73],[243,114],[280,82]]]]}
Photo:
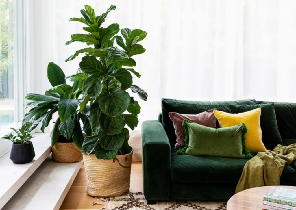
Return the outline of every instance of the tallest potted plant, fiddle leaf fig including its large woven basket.
{"type": "Polygon", "coordinates": [[[96,16],[94,9],[86,5],[81,9],[79,21],[88,33],[71,35],[66,45],[75,41],[85,42],[88,47],[78,50],[67,61],[78,54],[86,53],[79,67],[82,73],[70,78],[83,78],[83,101],[80,111],[90,103],[89,122],[92,135],[85,138],[82,145],[84,166],[88,181],[87,193],[91,196],[118,196],[128,192],[130,185],[131,159],[133,150],[128,145],[129,130],[138,125],[141,107],[127,92],[136,93],[144,101],[147,93],[133,84],[133,77],[140,77],[133,68],[136,62],[131,57],[145,52],[138,44],[147,33],[136,29],[121,29],[117,23],[102,27],[107,14],[116,9],[111,5],[107,12],[96,16]],[[114,42],[121,48],[114,46],[114,42]],[[87,75],[87,76],[86,76],[87,75]],[[84,78],[86,77],[86,78],[84,78]],[[108,176],[107,176],[108,174],[108,176]]]}

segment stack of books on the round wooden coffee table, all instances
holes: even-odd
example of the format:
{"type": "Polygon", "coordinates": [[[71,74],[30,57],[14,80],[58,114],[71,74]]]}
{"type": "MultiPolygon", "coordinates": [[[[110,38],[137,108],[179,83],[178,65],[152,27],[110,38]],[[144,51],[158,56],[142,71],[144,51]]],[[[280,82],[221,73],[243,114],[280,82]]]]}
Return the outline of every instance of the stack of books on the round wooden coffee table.
{"type": "Polygon", "coordinates": [[[296,210],[296,190],[271,187],[263,197],[263,209],[296,210]]]}

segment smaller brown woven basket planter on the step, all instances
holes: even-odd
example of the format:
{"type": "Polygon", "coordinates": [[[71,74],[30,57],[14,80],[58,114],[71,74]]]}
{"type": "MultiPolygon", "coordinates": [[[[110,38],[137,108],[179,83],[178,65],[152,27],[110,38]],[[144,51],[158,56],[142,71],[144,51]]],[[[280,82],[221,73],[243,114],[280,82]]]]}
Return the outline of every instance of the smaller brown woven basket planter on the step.
{"type": "Polygon", "coordinates": [[[52,159],[58,163],[75,163],[83,159],[81,149],[74,142],[54,144],[52,159]]]}

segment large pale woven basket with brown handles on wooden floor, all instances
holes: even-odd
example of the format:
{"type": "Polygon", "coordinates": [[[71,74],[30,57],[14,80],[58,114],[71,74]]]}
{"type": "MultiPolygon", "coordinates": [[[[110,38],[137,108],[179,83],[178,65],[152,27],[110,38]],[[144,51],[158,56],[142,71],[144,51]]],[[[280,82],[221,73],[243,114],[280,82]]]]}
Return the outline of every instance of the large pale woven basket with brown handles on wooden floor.
{"type": "Polygon", "coordinates": [[[127,193],[131,182],[131,153],[118,155],[113,160],[98,160],[94,154],[83,154],[87,179],[87,194],[114,197],[127,193]]]}

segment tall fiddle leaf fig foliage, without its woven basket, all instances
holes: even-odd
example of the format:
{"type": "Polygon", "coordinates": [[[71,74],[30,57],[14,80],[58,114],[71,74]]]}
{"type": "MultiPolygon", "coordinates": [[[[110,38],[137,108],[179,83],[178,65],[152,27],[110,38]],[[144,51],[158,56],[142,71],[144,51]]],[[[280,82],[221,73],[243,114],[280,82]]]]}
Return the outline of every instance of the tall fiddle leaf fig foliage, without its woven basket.
{"type": "Polygon", "coordinates": [[[85,138],[82,152],[94,153],[97,159],[107,160],[131,152],[128,145],[129,130],[125,125],[132,130],[138,125],[141,107],[127,92],[128,89],[142,100],[147,100],[147,93],[133,84],[131,75],[141,77],[139,72],[131,68],[136,66],[131,57],[145,52],[138,43],[147,33],[140,29],[120,30],[117,23],[102,27],[107,14],[114,9],[116,7],[111,5],[105,13],[96,16],[94,10],[86,5],[81,10],[83,17],[71,18],[69,21],[84,23],[86,27],[83,30],[88,33],[73,34],[71,40],[66,42],[66,45],[76,41],[87,45],[66,59],[67,62],[80,53],[86,53],[79,64],[81,72],[69,77],[71,80],[79,78],[83,81],[83,101],[79,104],[79,111],[89,112],[92,135],[85,138]],[[117,35],[119,31],[122,36],[117,35]],[[114,46],[115,41],[119,47],[114,46]],[[90,110],[86,110],[88,103],[91,104],[90,110]]]}

